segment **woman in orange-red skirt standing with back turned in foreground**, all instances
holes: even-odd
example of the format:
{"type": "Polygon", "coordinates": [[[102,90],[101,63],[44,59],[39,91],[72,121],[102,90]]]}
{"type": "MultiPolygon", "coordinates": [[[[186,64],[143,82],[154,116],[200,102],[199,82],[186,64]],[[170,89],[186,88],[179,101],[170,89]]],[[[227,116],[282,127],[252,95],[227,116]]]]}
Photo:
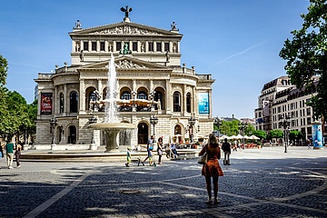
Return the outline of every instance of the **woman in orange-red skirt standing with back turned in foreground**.
{"type": "Polygon", "coordinates": [[[220,203],[218,201],[218,177],[223,176],[223,170],[218,162],[221,157],[221,151],[214,134],[209,135],[208,144],[204,145],[199,156],[203,155],[205,152],[208,154],[208,161],[206,164],[203,164],[202,174],[205,177],[206,189],[209,197],[209,200],[206,203],[213,203],[211,187],[211,178],[213,177],[214,204],[217,204],[220,203]]]}

